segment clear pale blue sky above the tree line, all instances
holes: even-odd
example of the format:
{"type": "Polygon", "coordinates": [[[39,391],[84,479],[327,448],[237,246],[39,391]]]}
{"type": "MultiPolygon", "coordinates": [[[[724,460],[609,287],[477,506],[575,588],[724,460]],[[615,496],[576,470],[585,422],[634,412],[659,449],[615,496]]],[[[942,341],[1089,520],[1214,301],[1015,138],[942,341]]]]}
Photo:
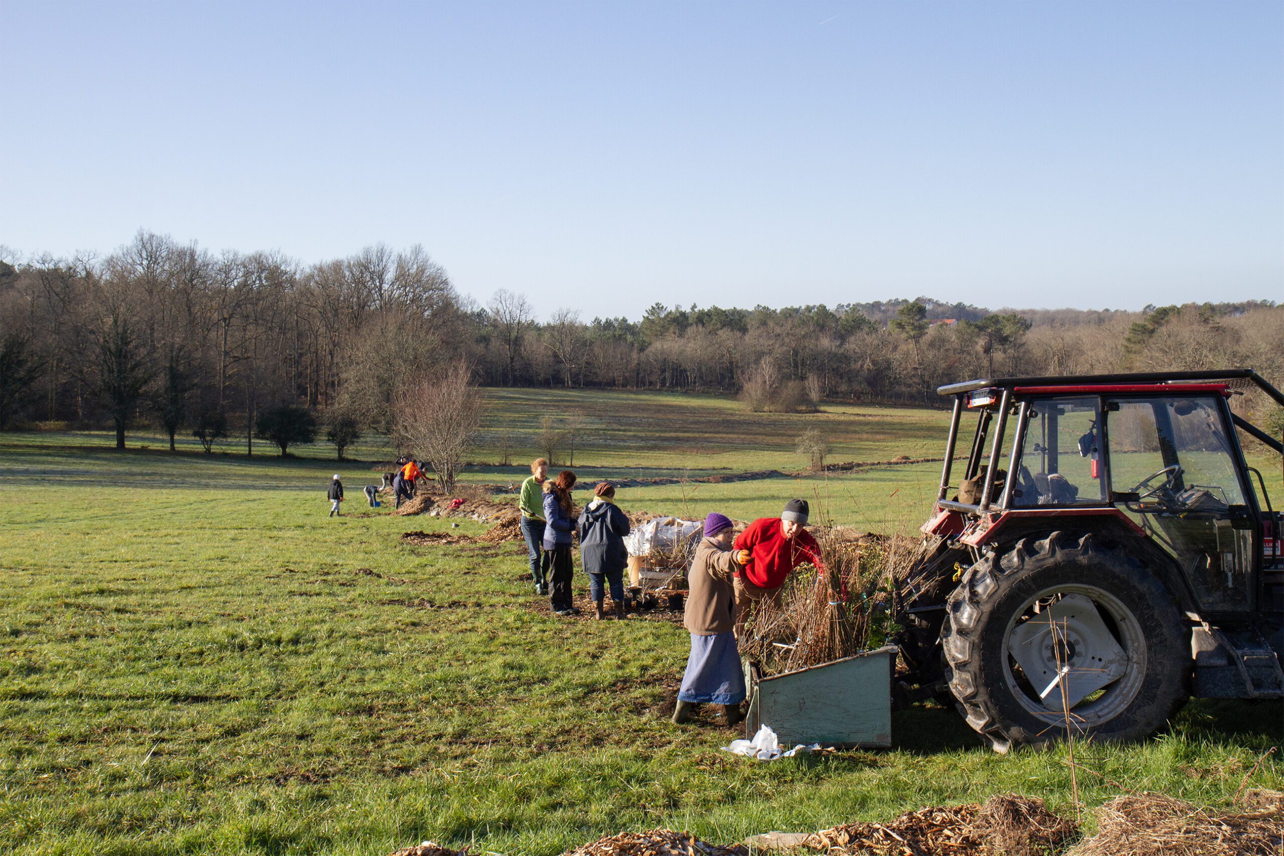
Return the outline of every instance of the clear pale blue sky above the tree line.
{"type": "Polygon", "coordinates": [[[457,287],[1284,299],[1281,3],[12,3],[0,244],[139,228],[457,287]]]}

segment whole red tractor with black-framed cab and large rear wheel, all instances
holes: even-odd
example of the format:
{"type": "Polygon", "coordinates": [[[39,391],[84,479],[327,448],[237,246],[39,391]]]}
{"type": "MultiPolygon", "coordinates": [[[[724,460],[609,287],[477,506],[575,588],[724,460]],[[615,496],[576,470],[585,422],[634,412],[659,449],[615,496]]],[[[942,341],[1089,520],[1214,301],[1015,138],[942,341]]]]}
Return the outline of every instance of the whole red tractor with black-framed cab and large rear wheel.
{"type": "Polygon", "coordinates": [[[1284,698],[1281,515],[1240,434],[1284,443],[1231,412],[1248,385],[1284,406],[1252,370],[942,386],[936,508],[895,603],[900,697],[949,693],[1000,752],[1136,740],[1192,696],[1284,698]]]}

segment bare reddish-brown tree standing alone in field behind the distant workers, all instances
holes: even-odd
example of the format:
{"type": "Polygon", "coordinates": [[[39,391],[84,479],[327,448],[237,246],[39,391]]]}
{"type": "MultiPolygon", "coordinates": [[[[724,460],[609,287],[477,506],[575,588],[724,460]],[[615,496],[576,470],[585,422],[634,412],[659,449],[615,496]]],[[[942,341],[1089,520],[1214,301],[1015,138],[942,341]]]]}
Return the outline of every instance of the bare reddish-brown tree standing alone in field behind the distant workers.
{"type": "Polygon", "coordinates": [[[397,444],[428,461],[443,492],[453,490],[482,418],[482,394],[473,385],[469,367],[455,363],[411,384],[399,393],[395,412],[397,444]]]}

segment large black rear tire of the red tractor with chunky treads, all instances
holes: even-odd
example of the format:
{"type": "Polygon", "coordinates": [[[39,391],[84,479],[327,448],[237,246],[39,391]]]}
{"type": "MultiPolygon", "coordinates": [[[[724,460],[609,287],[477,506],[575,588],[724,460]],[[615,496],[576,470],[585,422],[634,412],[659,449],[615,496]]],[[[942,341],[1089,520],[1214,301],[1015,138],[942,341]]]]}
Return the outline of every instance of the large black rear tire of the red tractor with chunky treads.
{"type": "MultiPolygon", "coordinates": [[[[972,566],[950,594],[941,628],[950,692],[968,725],[998,752],[1067,734],[1064,711],[1048,710],[1039,690],[1031,692],[1048,675],[1027,678],[1008,646],[1013,629],[1032,611],[1070,593],[1093,599],[1099,624],[1127,655],[1121,678],[1071,710],[1076,738],[1144,739],[1189,694],[1190,634],[1145,562],[1117,544],[1097,543],[1091,534],[1022,539],[972,566]]],[[[1053,669],[1053,680],[1055,675],[1053,669]]]]}

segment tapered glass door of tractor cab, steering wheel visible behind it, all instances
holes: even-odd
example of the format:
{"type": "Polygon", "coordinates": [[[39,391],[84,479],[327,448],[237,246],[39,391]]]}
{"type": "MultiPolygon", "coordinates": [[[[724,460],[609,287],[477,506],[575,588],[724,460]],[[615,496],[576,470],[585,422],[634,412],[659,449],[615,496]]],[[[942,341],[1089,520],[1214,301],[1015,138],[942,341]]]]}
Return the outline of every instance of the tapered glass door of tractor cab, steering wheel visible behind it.
{"type": "Polygon", "coordinates": [[[1116,499],[1172,556],[1199,606],[1251,608],[1253,533],[1217,399],[1115,400],[1106,427],[1116,499]]]}

